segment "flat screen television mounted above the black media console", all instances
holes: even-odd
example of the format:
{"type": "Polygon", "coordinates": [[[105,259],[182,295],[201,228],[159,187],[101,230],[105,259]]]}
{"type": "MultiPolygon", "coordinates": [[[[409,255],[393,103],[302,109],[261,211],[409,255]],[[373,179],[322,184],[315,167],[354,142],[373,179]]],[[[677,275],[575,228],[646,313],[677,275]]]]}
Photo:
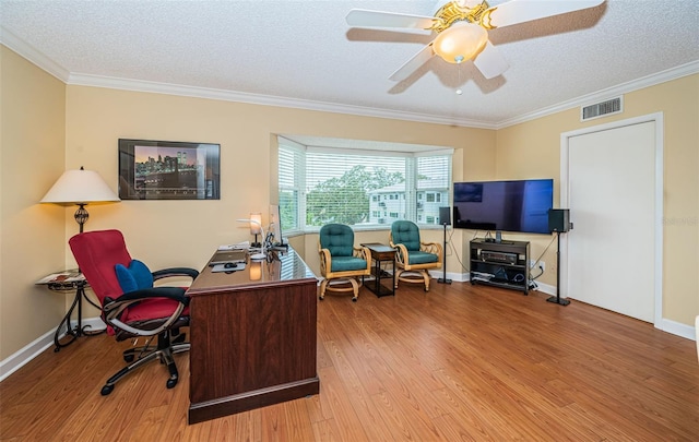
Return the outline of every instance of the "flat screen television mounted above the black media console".
{"type": "Polygon", "coordinates": [[[554,180],[454,182],[454,228],[550,234],[554,180]]]}

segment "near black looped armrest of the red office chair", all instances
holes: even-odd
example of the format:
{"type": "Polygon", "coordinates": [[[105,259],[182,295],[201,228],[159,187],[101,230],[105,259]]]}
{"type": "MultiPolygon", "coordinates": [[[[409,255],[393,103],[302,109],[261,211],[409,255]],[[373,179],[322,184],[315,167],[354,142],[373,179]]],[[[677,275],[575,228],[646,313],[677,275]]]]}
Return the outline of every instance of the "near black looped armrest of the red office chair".
{"type": "Polygon", "coordinates": [[[186,289],[180,287],[153,287],[142,290],[129,291],[121,295],[117,299],[105,299],[105,304],[102,308],[104,320],[107,324],[116,328],[125,330],[129,333],[133,333],[140,336],[153,336],[167,330],[175,321],[177,321],[185,310],[185,307],[189,304],[189,297],[185,295],[186,289]],[[131,326],[122,322],[119,316],[129,307],[141,302],[144,299],[166,298],[178,302],[178,307],[173,314],[157,328],[143,330],[131,326]]]}

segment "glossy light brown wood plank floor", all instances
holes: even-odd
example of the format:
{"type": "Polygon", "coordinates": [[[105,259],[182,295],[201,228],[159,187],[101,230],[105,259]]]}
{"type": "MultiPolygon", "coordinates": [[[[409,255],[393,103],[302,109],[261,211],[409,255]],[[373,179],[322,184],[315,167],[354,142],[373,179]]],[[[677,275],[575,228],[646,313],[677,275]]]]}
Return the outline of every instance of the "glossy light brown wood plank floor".
{"type": "MultiPolygon", "coordinates": [[[[547,296],[454,283],[319,302],[320,394],[187,425],[188,355],[165,389],[106,335],[0,383],[2,441],[697,441],[695,343],[547,296]]],[[[222,336],[225,339],[226,336],[222,336]]]]}

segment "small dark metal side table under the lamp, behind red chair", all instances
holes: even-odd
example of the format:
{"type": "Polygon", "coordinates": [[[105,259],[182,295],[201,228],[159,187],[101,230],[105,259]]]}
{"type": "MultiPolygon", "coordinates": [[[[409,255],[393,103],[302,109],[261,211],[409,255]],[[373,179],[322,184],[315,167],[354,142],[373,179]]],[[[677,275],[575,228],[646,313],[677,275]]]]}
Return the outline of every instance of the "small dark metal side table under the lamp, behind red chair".
{"type": "Polygon", "coordinates": [[[102,310],[102,307],[97,306],[85,295],[87,280],[78,268],[51,273],[50,275],[46,275],[42,279],[37,280],[36,284],[45,285],[51,291],[66,292],[75,290],[75,298],[73,299],[73,303],[70,306],[70,309],[68,309],[68,313],[66,313],[66,316],[63,316],[60,324],[58,324],[56,333],[54,334],[54,344],[56,345],[54,351],[59,351],[61,348],[68,347],[80,336],[98,335],[107,330],[103,328],[96,331],[87,331],[86,328],[91,327],[91,325],[83,326],[83,298],[99,310],[102,310]],[[70,324],[70,320],[73,315],[73,310],[75,310],[75,307],[78,307],[78,325],[72,327],[70,324]],[[70,337],[67,342],[61,343],[59,336],[63,326],[66,326],[66,335],[70,337]]]}

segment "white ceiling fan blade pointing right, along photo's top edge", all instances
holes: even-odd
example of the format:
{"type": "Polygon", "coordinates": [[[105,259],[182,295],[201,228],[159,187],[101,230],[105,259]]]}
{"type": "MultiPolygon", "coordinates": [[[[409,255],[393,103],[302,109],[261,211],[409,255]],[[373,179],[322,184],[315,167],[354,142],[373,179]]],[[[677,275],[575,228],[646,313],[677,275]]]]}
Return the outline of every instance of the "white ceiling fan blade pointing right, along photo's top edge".
{"type": "Polygon", "coordinates": [[[483,21],[486,27],[503,27],[518,23],[531,22],[566,12],[594,8],[605,0],[510,0],[506,3],[490,8],[489,19],[483,21]]]}

